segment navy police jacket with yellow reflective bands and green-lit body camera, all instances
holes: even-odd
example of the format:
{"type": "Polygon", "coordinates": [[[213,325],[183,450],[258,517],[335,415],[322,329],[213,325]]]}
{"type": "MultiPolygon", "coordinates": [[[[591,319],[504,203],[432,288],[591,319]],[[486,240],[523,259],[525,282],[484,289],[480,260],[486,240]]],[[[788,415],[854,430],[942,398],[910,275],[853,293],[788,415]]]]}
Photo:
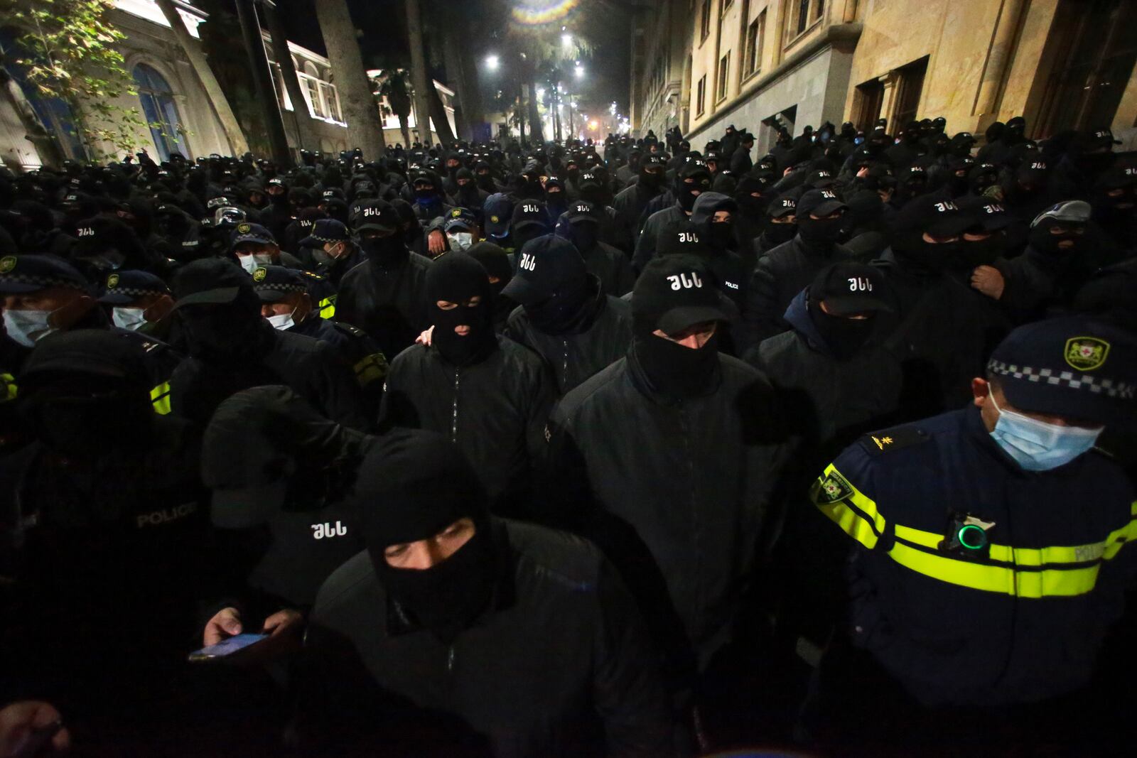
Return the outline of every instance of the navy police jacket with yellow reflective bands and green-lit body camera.
{"type": "Polygon", "coordinates": [[[1088,683],[1137,558],[1134,491],[1104,453],[1027,472],[966,408],[865,435],[812,497],[857,543],[854,644],[918,700],[1030,702],[1088,683]]]}

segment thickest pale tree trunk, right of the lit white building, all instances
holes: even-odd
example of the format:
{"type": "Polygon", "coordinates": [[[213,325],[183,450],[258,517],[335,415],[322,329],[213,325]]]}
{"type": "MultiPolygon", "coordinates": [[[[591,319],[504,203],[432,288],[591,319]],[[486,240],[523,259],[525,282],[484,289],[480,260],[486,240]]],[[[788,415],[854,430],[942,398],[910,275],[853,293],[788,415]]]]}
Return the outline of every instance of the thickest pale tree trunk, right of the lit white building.
{"type": "Polygon", "coordinates": [[[316,20],[335,74],[335,89],[348,123],[348,149],[362,148],[364,160],[379,160],[387,149],[379,105],[363,67],[347,0],[316,0],[316,20]]]}

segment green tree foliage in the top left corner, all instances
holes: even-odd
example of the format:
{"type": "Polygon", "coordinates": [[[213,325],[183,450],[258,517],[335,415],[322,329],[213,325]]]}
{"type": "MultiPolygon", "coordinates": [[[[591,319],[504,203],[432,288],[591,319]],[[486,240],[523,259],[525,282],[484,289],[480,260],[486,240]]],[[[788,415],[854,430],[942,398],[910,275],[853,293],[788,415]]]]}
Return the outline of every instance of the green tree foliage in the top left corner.
{"type": "MultiPolygon", "coordinates": [[[[92,160],[103,160],[101,144],[117,152],[134,152],[141,128],[148,124],[138,107],[115,101],[136,95],[118,43],[125,34],[106,15],[111,0],[8,0],[6,15],[23,31],[17,39],[27,82],[42,98],[59,98],[70,108],[75,131],[92,160]]],[[[184,131],[179,127],[180,133],[184,131]]]]}

